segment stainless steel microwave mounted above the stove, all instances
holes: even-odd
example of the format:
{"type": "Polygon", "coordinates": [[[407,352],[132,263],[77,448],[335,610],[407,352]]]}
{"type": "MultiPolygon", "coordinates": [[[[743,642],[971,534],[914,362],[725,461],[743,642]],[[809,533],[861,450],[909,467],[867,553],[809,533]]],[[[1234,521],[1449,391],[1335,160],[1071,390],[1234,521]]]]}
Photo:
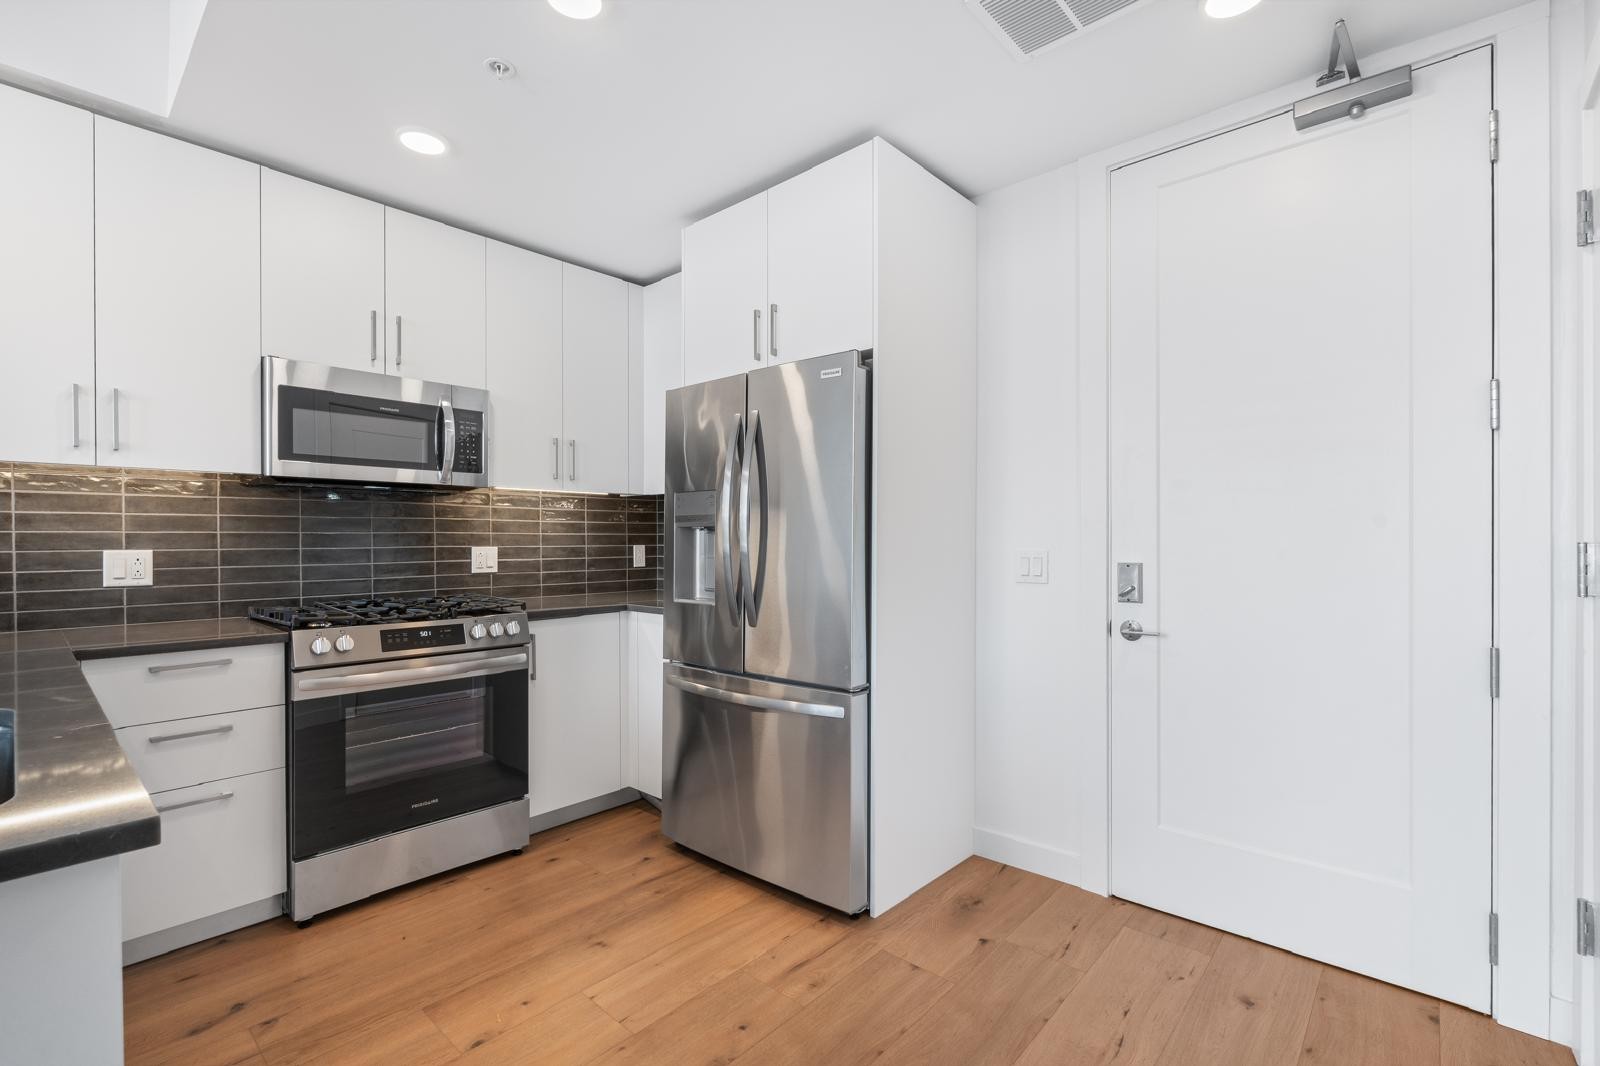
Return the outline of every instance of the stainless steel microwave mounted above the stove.
{"type": "Polygon", "coordinates": [[[483,389],[264,355],[261,472],[386,485],[488,485],[483,389]]]}

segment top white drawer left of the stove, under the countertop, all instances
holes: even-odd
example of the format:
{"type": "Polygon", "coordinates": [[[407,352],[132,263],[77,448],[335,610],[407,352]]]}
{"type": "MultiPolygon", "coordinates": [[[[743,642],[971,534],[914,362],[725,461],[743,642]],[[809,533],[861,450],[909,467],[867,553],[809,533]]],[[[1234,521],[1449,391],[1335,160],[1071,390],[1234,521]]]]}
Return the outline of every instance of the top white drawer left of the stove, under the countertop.
{"type": "Polygon", "coordinates": [[[117,728],[283,703],[283,645],[133,655],[83,663],[117,728]]]}

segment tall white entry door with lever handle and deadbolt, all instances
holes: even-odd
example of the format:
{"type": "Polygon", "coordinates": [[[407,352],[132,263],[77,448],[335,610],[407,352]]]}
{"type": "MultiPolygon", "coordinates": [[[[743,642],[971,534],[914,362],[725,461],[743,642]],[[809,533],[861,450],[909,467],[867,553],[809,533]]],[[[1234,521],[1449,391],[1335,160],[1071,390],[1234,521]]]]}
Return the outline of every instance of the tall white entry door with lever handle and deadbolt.
{"type": "Polygon", "coordinates": [[[1112,179],[1112,892],[1490,1007],[1490,53],[1112,179]]]}

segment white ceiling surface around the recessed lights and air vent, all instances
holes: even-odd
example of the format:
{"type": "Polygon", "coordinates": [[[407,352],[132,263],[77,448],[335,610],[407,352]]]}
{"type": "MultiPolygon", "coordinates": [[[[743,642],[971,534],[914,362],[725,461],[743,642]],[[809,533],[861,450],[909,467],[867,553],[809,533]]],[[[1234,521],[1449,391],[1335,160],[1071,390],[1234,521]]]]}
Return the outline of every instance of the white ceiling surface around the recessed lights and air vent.
{"type": "Polygon", "coordinates": [[[1027,62],[962,0],[210,0],[160,123],[632,280],[680,227],[882,134],[968,195],[1518,0],[1149,0],[1027,62]],[[496,82],[483,59],[518,77],[496,82]],[[402,149],[418,125],[453,150],[402,149]]]}

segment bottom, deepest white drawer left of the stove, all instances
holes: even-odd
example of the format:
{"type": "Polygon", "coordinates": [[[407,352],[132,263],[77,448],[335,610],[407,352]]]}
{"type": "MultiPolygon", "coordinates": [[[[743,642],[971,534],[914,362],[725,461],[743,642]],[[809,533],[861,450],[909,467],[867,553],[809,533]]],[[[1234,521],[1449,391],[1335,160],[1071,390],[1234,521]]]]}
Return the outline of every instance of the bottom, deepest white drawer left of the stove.
{"type": "Polygon", "coordinates": [[[122,938],[258,903],[285,888],[283,771],[157,792],[162,842],[122,856],[122,938]]]}

